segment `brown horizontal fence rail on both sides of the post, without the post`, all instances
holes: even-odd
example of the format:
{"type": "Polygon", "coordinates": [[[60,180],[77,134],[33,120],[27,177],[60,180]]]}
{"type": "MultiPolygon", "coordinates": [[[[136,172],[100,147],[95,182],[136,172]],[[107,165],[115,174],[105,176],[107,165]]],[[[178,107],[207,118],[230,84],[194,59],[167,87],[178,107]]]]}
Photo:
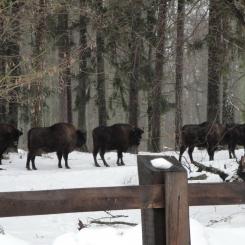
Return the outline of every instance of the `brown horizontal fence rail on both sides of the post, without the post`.
{"type": "MultiPolygon", "coordinates": [[[[155,184],[0,192],[0,217],[164,208],[164,187],[155,184]]],[[[190,206],[245,204],[244,193],[245,183],[188,184],[190,206]]]]}

